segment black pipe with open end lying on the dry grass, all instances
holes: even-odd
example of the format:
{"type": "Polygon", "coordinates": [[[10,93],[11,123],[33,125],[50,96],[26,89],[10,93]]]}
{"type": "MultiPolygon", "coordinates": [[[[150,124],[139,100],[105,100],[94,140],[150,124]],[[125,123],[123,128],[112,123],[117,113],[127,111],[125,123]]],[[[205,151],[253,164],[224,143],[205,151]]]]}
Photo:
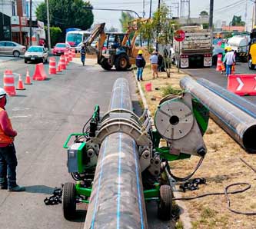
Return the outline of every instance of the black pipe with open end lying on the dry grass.
{"type": "Polygon", "coordinates": [[[191,95],[201,101],[211,112],[211,118],[220,125],[241,146],[249,151],[256,152],[256,120],[251,115],[231,102],[221,98],[213,91],[194,81],[191,77],[182,78],[181,88],[190,91],[191,95]]]}

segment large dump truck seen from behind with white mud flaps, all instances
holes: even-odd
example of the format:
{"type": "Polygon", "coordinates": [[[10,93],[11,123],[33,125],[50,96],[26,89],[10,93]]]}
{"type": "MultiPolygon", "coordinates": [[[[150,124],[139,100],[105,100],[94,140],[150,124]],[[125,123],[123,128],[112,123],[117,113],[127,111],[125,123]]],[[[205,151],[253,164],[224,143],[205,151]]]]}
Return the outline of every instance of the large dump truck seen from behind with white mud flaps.
{"type": "Polygon", "coordinates": [[[185,32],[185,40],[178,42],[174,39],[173,42],[176,65],[180,68],[211,67],[211,30],[199,25],[181,26],[181,29],[185,32]]]}

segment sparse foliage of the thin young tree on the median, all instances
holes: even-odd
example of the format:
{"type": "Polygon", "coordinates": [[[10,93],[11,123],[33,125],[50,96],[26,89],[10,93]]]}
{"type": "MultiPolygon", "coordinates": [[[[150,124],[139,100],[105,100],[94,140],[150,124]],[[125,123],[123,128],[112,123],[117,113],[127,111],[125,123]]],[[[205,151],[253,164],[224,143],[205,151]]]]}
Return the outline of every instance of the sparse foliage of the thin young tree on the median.
{"type": "Polygon", "coordinates": [[[170,9],[164,3],[160,9],[154,13],[151,23],[141,25],[140,32],[145,40],[157,40],[159,44],[170,44],[175,22],[168,16],[170,9]]]}

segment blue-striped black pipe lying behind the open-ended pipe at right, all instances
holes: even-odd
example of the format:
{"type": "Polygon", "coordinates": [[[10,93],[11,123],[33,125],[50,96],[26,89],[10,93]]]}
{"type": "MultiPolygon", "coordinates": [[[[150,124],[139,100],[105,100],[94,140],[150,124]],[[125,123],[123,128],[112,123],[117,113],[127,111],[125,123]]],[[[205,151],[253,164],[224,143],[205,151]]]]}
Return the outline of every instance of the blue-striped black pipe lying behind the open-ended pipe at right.
{"type": "Polygon", "coordinates": [[[214,92],[214,94],[224,98],[226,101],[229,101],[232,105],[241,109],[248,115],[251,115],[251,117],[256,118],[256,105],[247,99],[235,95],[233,92],[228,91],[225,88],[221,88],[221,86],[216,85],[207,79],[197,78],[197,81],[200,85],[204,86],[204,88],[208,88],[210,91],[214,92]]]}

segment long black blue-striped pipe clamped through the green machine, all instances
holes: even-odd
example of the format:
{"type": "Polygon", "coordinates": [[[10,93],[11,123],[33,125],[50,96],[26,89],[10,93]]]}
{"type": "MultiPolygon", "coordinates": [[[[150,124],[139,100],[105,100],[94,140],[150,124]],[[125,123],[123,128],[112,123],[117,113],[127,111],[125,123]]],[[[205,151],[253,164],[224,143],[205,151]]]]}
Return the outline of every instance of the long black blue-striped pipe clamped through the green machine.
{"type": "MultiPolygon", "coordinates": [[[[118,78],[109,109],[131,111],[128,81],[118,78]]],[[[125,133],[101,143],[85,229],[148,228],[138,148],[125,133]]]]}

